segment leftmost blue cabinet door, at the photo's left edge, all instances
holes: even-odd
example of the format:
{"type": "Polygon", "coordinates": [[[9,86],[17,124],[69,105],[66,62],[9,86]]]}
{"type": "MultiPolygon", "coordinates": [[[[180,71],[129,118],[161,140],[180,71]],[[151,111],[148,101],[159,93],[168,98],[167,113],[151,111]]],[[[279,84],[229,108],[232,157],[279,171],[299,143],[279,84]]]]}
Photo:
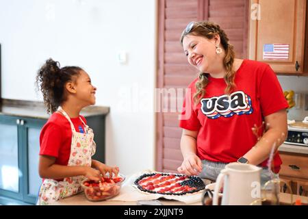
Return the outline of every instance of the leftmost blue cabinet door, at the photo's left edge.
{"type": "Polygon", "coordinates": [[[0,116],[0,195],[21,198],[16,118],[0,116]]]}

